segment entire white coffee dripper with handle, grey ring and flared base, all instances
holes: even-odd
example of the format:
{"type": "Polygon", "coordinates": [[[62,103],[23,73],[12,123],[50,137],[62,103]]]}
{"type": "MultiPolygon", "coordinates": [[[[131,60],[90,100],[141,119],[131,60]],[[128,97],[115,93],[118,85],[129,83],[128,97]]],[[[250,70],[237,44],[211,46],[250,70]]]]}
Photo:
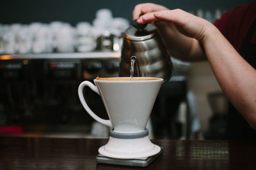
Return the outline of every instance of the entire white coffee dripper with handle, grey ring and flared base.
{"type": "Polygon", "coordinates": [[[111,127],[108,143],[99,148],[99,153],[105,157],[141,159],[156,155],[161,150],[150,141],[146,125],[163,78],[137,79],[141,78],[143,80],[130,80],[129,77],[122,80],[95,79],[95,85],[90,81],[79,85],[78,96],[87,113],[100,124],[111,127]],[[86,86],[102,98],[109,120],[90,110],[83,96],[86,86]]]}

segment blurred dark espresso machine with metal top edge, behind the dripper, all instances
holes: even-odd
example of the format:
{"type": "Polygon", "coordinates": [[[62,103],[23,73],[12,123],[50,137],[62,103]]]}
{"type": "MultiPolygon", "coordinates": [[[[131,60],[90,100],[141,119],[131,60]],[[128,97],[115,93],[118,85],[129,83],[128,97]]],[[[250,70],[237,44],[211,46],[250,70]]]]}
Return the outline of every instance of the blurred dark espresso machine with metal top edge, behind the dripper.
{"type": "MultiPolygon", "coordinates": [[[[77,87],[96,76],[118,76],[119,62],[118,52],[0,55],[0,125],[20,125],[24,134],[83,125],[80,131],[90,134],[93,120],[84,113],[77,87]]],[[[108,117],[100,97],[88,96],[93,110],[108,117]]]]}

